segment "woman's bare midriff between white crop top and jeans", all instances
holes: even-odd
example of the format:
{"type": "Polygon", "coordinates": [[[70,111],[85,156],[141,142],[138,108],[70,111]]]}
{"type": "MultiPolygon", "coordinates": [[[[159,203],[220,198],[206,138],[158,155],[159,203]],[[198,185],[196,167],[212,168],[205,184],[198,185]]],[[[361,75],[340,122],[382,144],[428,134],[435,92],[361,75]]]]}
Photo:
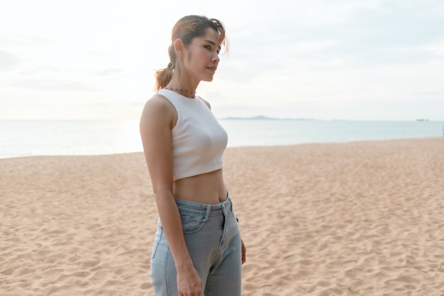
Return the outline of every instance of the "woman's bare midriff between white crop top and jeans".
{"type": "Polygon", "coordinates": [[[222,170],[186,177],[173,182],[173,194],[177,199],[199,204],[219,204],[227,199],[222,170]]]}

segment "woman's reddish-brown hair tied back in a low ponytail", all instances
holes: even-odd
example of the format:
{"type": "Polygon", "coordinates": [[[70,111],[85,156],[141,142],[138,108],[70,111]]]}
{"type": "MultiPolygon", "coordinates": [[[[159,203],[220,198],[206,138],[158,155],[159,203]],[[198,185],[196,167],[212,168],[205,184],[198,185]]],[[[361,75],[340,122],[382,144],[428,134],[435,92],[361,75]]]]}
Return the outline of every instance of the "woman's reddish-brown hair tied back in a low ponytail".
{"type": "Polygon", "coordinates": [[[172,77],[174,67],[176,67],[176,53],[174,52],[174,40],[180,38],[185,46],[192,43],[193,38],[205,35],[207,28],[212,28],[219,34],[219,43],[228,51],[228,40],[225,35],[225,26],[216,18],[207,18],[206,16],[184,16],[179,19],[172,28],[171,45],[168,48],[170,63],[164,69],[155,72],[156,85],[155,90],[167,86],[172,77]]]}

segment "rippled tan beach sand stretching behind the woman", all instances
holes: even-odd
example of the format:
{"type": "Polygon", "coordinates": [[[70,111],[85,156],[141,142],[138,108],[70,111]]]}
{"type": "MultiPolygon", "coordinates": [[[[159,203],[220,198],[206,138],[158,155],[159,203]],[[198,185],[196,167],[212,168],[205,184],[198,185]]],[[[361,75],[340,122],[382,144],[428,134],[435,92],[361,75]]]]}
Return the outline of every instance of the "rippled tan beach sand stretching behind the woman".
{"type": "MultiPolygon", "coordinates": [[[[228,148],[243,295],[444,295],[444,138],[228,148]]],[[[0,160],[0,295],[154,295],[142,153],[0,160]]]]}

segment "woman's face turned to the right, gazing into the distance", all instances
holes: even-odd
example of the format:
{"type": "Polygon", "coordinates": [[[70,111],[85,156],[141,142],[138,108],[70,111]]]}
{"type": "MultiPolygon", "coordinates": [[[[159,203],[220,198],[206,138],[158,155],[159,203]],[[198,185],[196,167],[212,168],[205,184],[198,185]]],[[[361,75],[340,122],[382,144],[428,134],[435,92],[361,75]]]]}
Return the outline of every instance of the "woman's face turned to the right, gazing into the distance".
{"type": "Polygon", "coordinates": [[[211,81],[216,72],[221,51],[219,35],[212,28],[207,28],[205,35],[195,37],[186,48],[184,70],[199,81],[211,81]]]}

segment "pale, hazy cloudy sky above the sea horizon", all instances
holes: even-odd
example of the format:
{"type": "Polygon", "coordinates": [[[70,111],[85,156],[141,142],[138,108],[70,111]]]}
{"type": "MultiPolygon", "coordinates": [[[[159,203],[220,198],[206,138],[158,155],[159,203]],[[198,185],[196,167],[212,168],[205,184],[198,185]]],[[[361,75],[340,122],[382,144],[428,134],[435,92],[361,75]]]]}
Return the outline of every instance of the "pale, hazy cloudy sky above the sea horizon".
{"type": "Polygon", "coordinates": [[[442,0],[0,0],[0,120],[138,119],[188,14],[226,26],[218,118],[444,120],[442,0]]]}

